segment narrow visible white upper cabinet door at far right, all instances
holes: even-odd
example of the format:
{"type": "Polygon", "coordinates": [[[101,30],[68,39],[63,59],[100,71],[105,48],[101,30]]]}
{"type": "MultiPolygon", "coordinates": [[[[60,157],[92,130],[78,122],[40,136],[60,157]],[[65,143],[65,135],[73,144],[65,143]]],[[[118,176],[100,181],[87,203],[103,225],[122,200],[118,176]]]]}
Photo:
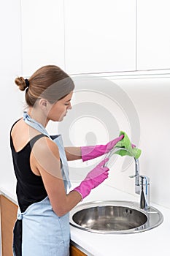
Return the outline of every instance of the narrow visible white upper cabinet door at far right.
{"type": "Polygon", "coordinates": [[[170,69],[170,1],[138,1],[137,10],[137,69],[170,69]]]}

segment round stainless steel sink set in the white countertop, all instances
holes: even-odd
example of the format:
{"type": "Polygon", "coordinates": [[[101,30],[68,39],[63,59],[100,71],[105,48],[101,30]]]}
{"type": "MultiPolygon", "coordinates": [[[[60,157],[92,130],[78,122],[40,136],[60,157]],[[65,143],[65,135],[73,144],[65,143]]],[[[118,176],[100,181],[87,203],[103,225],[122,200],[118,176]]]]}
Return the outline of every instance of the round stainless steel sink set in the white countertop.
{"type": "Polygon", "coordinates": [[[70,224],[93,233],[139,233],[163,222],[156,208],[147,211],[136,202],[95,201],[82,203],[70,212],[70,224]]]}

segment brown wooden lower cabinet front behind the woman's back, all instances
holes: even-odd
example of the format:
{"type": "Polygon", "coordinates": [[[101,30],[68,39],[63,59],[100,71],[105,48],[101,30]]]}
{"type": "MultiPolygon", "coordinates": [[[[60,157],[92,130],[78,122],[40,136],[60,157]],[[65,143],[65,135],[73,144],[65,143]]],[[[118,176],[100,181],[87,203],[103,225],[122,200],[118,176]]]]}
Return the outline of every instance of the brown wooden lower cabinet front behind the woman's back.
{"type": "Polygon", "coordinates": [[[1,195],[1,245],[2,255],[12,256],[13,227],[17,219],[18,206],[1,195]]]}

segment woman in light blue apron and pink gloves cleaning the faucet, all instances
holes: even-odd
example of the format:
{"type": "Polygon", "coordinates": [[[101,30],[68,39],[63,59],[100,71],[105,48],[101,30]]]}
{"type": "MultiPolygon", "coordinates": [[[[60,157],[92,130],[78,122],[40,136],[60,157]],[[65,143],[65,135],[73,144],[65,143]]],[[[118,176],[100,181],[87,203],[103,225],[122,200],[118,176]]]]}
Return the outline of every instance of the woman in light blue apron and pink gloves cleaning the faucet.
{"type": "Polygon", "coordinates": [[[17,178],[18,220],[14,227],[16,256],[69,255],[69,211],[107,177],[101,161],[80,186],[67,193],[67,160],[86,161],[109,152],[123,136],[106,145],[64,148],[61,136],[48,135],[48,121],[62,121],[72,108],[74,83],[59,67],[38,69],[29,79],[16,78],[26,89],[28,112],[11,129],[12,159],[17,178]]]}

